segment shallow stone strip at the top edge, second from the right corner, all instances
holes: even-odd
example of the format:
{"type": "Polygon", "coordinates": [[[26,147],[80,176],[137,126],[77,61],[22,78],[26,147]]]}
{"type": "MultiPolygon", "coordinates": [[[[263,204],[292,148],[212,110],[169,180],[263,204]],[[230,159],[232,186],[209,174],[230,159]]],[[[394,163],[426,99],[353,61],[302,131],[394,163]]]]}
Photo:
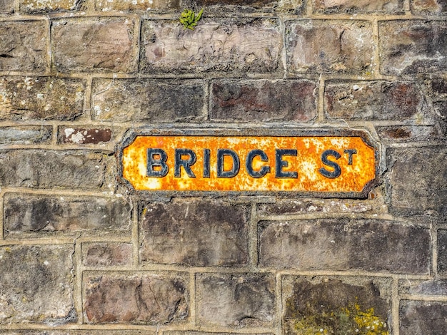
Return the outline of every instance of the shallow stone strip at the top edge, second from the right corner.
{"type": "Polygon", "coordinates": [[[396,13],[403,0],[313,0],[313,8],[324,13],[396,13]]]}

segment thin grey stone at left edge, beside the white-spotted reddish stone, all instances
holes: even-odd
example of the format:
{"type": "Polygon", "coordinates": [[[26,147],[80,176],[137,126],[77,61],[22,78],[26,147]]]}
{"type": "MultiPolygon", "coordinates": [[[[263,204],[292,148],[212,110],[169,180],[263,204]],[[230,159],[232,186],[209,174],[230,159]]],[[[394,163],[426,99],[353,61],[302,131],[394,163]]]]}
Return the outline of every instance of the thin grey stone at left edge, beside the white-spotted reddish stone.
{"type": "Polygon", "coordinates": [[[0,127],[0,144],[48,143],[51,132],[49,126],[0,127]]]}

